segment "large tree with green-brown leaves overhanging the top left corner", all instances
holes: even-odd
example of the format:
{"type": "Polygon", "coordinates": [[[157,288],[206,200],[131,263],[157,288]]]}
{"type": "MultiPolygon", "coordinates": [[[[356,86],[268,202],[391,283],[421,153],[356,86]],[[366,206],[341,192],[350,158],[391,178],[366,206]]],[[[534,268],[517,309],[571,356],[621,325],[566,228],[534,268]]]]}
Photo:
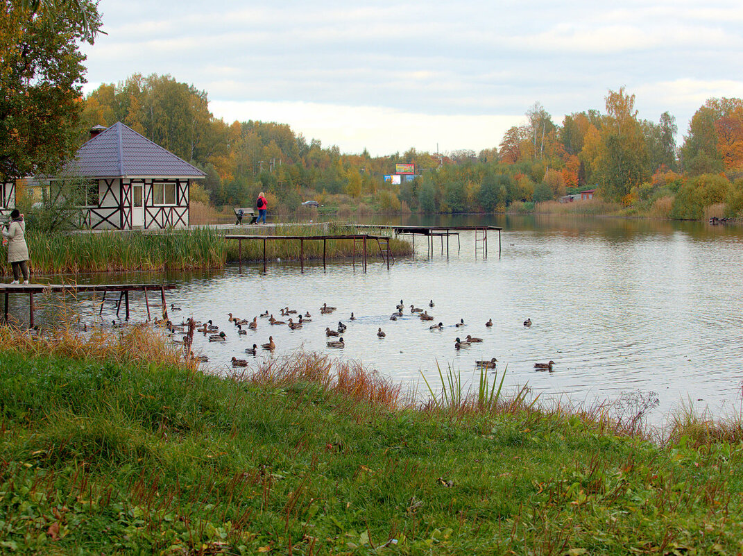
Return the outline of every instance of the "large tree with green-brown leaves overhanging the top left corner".
{"type": "Polygon", "coordinates": [[[95,5],[80,6],[89,30],[80,13],[65,3],[4,2],[0,9],[0,178],[4,181],[55,172],[77,149],[80,89],[85,83],[85,56],[78,45],[88,37],[92,42],[100,27],[95,5]],[[34,8],[43,14],[36,14],[34,8]]]}

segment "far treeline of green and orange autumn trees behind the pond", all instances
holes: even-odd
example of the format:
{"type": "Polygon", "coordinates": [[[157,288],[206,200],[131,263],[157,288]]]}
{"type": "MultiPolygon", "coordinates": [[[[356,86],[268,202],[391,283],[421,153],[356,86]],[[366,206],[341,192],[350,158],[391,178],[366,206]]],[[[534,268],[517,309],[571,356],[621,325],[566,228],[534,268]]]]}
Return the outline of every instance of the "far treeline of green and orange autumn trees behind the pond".
{"type": "Polygon", "coordinates": [[[289,211],[312,198],[392,213],[529,212],[536,203],[596,189],[595,212],[742,216],[741,99],[707,100],[680,147],[675,117],[664,112],[658,123],[640,120],[635,95],[624,88],[606,95],[606,114],[574,112],[558,125],[535,103],[525,116],[525,125],[510,128],[499,146],[479,153],[409,149],[372,157],[308,143],[286,124],[226,123],[211,114],[206,91],[169,75],[135,74],[100,85],[83,107],[88,125],[122,121],[204,169],[203,190],[197,187],[192,198],[218,207],[250,205],[264,190],[272,207],[289,211]],[[383,176],[396,163],[415,164],[419,177],[386,183],[383,176]]]}

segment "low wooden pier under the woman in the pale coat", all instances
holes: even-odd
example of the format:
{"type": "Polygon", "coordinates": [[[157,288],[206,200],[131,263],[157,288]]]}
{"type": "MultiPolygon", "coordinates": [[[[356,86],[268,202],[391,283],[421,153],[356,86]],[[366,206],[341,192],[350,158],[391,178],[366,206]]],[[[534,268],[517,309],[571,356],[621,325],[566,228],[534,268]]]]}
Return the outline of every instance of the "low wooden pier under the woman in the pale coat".
{"type": "Polygon", "coordinates": [[[155,307],[162,307],[163,317],[167,317],[168,308],[165,302],[165,291],[172,290],[175,288],[175,284],[0,284],[0,292],[4,294],[5,298],[5,310],[4,310],[4,323],[7,324],[8,319],[8,298],[10,294],[27,294],[28,295],[28,321],[29,327],[33,328],[33,296],[36,294],[46,293],[60,293],[60,294],[80,294],[85,292],[103,292],[103,299],[100,302],[99,314],[103,312],[103,303],[106,301],[106,294],[113,292],[119,294],[119,299],[116,302],[116,316],[119,316],[122,303],[124,304],[124,310],[126,320],[129,320],[129,292],[130,291],[143,291],[144,300],[147,306],[147,318],[150,317],[150,301],[147,297],[147,292],[155,291],[160,294],[160,303],[155,303],[155,307]]]}

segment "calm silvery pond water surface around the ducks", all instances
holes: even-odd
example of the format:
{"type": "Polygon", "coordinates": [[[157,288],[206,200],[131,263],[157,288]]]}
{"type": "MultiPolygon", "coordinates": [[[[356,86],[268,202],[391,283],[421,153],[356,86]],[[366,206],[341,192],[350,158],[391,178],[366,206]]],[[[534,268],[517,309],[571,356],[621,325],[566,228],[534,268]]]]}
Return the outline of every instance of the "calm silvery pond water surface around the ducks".
{"type": "MultiPolygon", "coordinates": [[[[381,222],[381,221],[380,221],[381,222]]],[[[395,223],[400,220],[382,223],[395,223]]],[[[475,224],[481,217],[439,219],[440,224],[475,224]]],[[[172,320],[188,316],[212,319],[227,333],[226,343],[209,343],[198,334],[195,351],[210,357],[216,372],[227,369],[233,355],[273,335],[276,356],[296,349],[332,353],[415,386],[421,373],[438,383],[442,368],[461,369],[471,377],[476,359],[498,358],[507,364],[505,384],[528,384],[533,392],[574,403],[614,399],[623,392],[657,392],[660,405],[652,420],[662,424],[669,411],[684,403],[716,415],[737,413],[741,405],[743,352],[743,230],[619,219],[559,219],[501,217],[502,253],[497,234],[490,236],[490,253],[476,256],[474,236],[461,233],[461,249],[450,239],[450,254],[427,252],[420,238],[415,256],[398,259],[388,271],[371,259],[366,274],[350,262],[299,265],[273,262],[236,265],[217,273],[179,274],[168,302],[183,308],[172,320]],[[389,316],[403,300],[425,308],[444,323],[430,331],[409,313],[392,322],[389,316]],[[429,300],[435,303],[429,308],[429,300]],[[322,303],[337,306],[319,314],[322,303]],[[277,318],[285,306],[312,314],[312,323],[291,331],[259,319],[257,332],[238,336],[227,313],[252,319],[265,310],[277,318]],[[354,312],[357,320],[348,317],[354,312]],[[531,317],[533,326],[523,321],[531,317]],[[495,326],[484,323],[492,318],[495,326]],[[454,325],[464,319],[467,326],[454,325]],[[325,327],[343,320],[346,347],[328,350],[325,327]],[[378,328],[386,337],[378,339],[378,328]],[[456,351],[455,337],[471,334],[483,342],[456,351]],[[534,372],[536,361],[554,360],[554,372],[534,372]]],[[[407,219],[431,224],[429,219],[407,219]]],[[[135,274],[111,279],[160,280],[135,274]]],[[[133,301],[132,320],[143,320],[143,303],[133,301]]],[[[93,320],[91,304],[79,310],[93,320]]],[[[13,307],[18,317],[20,306],[13,307]]],[[[111,318],[111,309],[104,310],[111,318]]],[[[256,363],[269,357],[267,352],[256,363]]],[[[251,361],[253,361],[251,359],[251,361]]]]}

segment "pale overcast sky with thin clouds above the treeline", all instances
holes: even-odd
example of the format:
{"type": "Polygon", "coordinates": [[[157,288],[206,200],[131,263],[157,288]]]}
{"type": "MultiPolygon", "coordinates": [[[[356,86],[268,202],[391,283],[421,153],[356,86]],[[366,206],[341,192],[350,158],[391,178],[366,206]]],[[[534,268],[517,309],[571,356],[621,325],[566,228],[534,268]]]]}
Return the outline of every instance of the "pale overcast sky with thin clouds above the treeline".
{"type": "Polygon", "coordinates": [[[372,155],[497,146],[542,103],[641,118],[743,97],[740,1],[101,0],[88,85],[170,74],[216,117],[288,123],[309,141],[372,155]]]}

